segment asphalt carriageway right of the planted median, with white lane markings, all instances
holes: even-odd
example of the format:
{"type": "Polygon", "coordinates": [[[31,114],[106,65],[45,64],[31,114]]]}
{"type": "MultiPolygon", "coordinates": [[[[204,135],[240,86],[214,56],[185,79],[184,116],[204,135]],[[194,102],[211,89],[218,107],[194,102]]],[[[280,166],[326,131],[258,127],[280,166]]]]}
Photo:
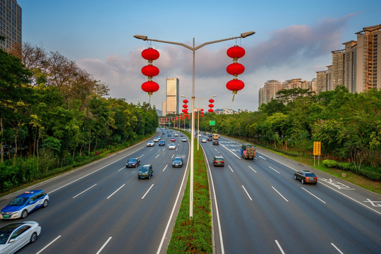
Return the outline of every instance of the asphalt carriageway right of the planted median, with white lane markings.
{"type": "MultiPolygon", "coordinates": [[[[202,136],[204,137],[204,136],[202,136]]],[[[241,143],[200,143],[210,167],[215,253],[381,253],[381,197],[298,162],[241,143]],[[222,155],[224,167],[213,167],[222,155]],[[294,172],[313,171],[301,184],[294,172]]]]}

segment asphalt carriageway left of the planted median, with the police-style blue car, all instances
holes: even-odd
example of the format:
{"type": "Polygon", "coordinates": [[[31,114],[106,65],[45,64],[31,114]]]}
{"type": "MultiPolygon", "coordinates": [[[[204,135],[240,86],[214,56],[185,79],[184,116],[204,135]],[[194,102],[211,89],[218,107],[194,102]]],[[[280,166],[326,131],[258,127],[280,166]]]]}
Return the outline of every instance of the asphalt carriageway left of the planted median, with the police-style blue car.
{"type": "MultiPolygon", "coordinates": [[[[167,133],[156,136],[166,145],[140,143],[28,188],[43,189],[50,202],[23,219],[39,222],[42,233],[18,253],[165,253],[188,176],[190,143],[176,137],[176,150],[168,150],[167,133]],[[171,167],[177,156],[184,167],[171,167]],[[152,178],[138,180],[140,166],[126,168],[129,157],[152,164],[152,178]]],[[[20,193],[1,198],[0,207],[20,193]]]]}

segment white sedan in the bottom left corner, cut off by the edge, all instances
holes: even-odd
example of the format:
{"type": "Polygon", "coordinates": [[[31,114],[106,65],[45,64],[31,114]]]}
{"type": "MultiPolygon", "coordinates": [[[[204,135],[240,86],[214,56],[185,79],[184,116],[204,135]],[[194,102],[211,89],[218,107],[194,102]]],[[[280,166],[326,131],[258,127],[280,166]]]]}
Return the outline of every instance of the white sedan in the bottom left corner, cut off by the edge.
{"type": "Polygon", "coordinates": [[[34,243],[41,233],[37,222],[15,222],[0,228],[0,253],[15,253],[28,243],[34,243]]]}

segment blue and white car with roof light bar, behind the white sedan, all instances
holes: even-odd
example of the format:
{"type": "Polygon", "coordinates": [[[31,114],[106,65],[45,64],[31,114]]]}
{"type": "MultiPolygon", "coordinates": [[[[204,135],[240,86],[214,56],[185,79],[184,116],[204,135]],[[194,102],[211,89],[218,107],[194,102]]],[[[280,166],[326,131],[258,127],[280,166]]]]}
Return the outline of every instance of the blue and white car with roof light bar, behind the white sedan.
{"type": "Polygon", "coordinates": [[[42,190],[25,191],[1,209],[0,219],[25,218],[29,212],[40,207],[47,207],[49,195],[42,190]]]}

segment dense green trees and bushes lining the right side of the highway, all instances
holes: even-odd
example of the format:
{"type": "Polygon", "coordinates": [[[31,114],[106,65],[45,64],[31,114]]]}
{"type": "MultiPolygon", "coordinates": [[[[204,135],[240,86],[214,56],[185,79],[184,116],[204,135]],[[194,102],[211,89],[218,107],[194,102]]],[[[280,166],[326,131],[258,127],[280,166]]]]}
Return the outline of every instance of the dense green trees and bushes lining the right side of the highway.
{"type": "Polygon", "coordinates": [[[306,158],[313,157],[318,141],[327,167],[381,181],[381,90],[352,94],[341,86],[313,95],[296,88],[278,95],[259,111],[205,114],[200,130],[306,158]],[[209,126],[210,120],[216,126],[209,126]]]}

